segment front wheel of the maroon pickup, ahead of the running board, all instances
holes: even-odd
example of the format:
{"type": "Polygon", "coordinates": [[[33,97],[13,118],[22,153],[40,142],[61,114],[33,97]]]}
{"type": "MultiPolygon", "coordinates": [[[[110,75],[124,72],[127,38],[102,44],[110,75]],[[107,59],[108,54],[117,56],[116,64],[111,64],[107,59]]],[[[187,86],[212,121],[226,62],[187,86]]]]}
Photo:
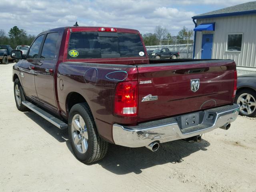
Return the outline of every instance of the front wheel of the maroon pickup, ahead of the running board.
{"type": "Polygon", "coordinates": [[[14,81],[14,98],[16,102],[16,107],[20,111],[28,111],[29,109],[22,104],[22,101],[25,101],[24,92],[22,89],[22,86],[20,84],[20,81],[16,79],[14,81]]]}

